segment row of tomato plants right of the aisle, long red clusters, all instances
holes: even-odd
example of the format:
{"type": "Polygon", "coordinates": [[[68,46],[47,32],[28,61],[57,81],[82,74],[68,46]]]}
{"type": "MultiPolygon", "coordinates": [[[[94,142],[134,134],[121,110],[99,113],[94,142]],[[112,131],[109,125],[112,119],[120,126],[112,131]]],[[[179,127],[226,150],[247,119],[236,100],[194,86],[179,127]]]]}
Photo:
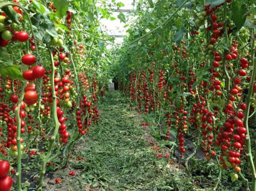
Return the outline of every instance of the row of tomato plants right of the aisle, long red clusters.
{"type": "MultiPolygon", "coordinates": [[[[136,56],[146,48],[130,50],[127,59],[133,62],[133,69],[128,66],[128,74],[119,73],[120,86],[129,92],[131,106],[139,114],[154,114],[159,134],[165,134],[166,140],[176,132],[180,157],[185,158],[186,165],[198,149],[207,161],[217,163],[214,190],[224,170],[230,172],[232,181],[240,176],[247,189],[256,190],[256,158],[252,154],[255,146],[250,136],[254,131],[249,128],[249,118],[255,113],[256,36],[253,27],[243,27],[236,33],[231,30],[234,23],[229,18],[235,3],[240,2],[205,4],[200,12],[196,11],[194,25],[186,23],[186,34],[180,43],[170,40],[169,35],[163,36],[162,40],[169,44],[161,49],[158,37],[148,37],[152,39],[151,44],[145,45],[146,55],[136,56]],[[136,59],[130,59],[131,54],[136,59]],[[185,134],[194,136],[196,145],[187,157],[185,134]]],[[[253,3],[240,5],[248,10],[255,7],[253,3]]],[[[134,43],[133,36],[131,33],[125,43],[134,43]]],[[[128,65],[127,60],[120,60],[123,65],[128,65]]]]}

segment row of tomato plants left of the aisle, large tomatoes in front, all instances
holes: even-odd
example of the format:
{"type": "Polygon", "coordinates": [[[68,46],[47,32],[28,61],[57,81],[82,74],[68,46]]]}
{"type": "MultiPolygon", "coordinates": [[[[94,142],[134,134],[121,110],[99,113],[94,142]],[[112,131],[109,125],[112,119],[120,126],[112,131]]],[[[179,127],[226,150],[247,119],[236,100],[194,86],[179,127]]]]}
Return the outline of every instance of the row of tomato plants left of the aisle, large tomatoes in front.
{"type": "MultiPolygon", "coordinates": [[[[15,190],[22,190],[25,158],[40,161],[36,189],[42,190],[47,167],[57,157],[63,158],[58,168],[66,167],[77,142],[99,120],[98,99],[105,92],[100,75],[82,67],[89,55],[82,39],[78,42],[74,37],[75,15],[67,11],[63,25],[53,28],[49,40],[40,41],[35,37],[32,15],[40,14],[39,8],[49,13],[58,10],[52,2],[30,3],[0,2],[0,50],[6,54],[0,60],[16,60],[5,64],[15,74],[6,71],[0,75],[1,191],[12,187],[13,179],[7,176],[10,164],[15,190]]],[[[49,15],[48,25],[61,24],[58,18],[51,21],[49,15]]]]}

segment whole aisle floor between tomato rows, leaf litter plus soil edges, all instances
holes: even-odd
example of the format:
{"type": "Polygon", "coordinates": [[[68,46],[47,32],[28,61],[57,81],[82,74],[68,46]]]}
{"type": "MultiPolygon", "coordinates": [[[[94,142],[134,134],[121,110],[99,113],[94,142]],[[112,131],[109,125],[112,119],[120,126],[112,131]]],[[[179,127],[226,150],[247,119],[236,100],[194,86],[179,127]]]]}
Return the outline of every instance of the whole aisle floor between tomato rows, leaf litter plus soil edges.
{"type": "MultiPolygon", "coordinates": [[[[179,164],[156,159],[149,127],[119,92],[107,92],[99,106],[100,122],[78,145],[69,168],[45,179],[46,190],[158,190],[188,181],[179,164]],[[70,170],[75,177],[66,176],[70,170]],[[184,178],[183,178],[184,177],[184,178]],[[62,184],[54,184],[60,178],[62,184]],[[174,181],[177,180],[177,183],[174,181]],[[178,181],[179,180],[179,181],[178,181]]],[[[189,185],[188,185],[189,186],[189,185]]],[[[186,190],[187,186],[184,188],[186,190]]],[[[182,190],[182,189],[181,189],[182,190]]]]}

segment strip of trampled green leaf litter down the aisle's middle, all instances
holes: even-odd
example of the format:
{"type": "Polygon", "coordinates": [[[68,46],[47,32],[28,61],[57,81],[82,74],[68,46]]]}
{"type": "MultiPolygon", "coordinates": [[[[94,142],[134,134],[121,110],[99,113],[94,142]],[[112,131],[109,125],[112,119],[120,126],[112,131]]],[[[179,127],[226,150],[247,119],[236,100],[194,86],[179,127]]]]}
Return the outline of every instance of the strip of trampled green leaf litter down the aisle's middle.
{"type": "Polygon", "coordinates": [[[148,144],[153,137],[126,100],[119,92],[106,94],[100,123],[82,151],[88,167],[84,176],[90,177],[87,184],[105,190],[154,190],[168,180],[169,171],[155,163],[148,144]]]}

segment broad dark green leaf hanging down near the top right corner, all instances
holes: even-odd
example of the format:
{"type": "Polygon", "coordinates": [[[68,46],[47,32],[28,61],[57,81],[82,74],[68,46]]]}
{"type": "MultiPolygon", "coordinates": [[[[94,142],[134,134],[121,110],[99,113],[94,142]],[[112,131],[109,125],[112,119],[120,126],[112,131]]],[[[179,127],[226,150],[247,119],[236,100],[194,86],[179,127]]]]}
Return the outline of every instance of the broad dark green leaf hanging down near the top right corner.
{"type": "Polygon", "coordinates": [[[232,21],[235,23],[237,30],[240,30],[246,20],[247,8],[243,2],[236,1],[232,3],[232,21]]]}

